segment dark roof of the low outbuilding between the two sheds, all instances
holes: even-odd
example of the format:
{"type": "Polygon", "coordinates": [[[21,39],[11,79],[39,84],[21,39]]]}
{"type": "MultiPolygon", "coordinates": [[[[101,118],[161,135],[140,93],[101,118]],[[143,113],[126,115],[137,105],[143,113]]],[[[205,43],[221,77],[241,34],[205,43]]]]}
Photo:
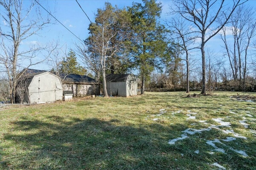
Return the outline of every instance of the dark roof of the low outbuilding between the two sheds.
{"type": "Polygon", "coordinates": [[[96,80],[85,75],[79,74],[60,74],[60,78],[63,82],[74,82],[74,83],[95,83],[96,80]]]}

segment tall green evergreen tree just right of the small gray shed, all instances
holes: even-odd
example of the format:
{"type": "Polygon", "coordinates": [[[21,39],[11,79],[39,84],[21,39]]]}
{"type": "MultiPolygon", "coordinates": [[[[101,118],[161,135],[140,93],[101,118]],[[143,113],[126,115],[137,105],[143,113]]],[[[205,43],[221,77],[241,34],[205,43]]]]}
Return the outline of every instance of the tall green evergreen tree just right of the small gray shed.
{"type": "Polygon", "coordinates": [[[166,29],[158,21],[162,12],[161,3],[155,0],[143,0],[144,6],[140,3],[133,3],[128,8],[132,17],[131,33],[134,38],[131,40],[134,45],[134,62],[140,70],[141,94],[144,94],[145,83],[150,73],[159,65],[161,57],[167,55],[167,43],[165,41],[166,29]]]}

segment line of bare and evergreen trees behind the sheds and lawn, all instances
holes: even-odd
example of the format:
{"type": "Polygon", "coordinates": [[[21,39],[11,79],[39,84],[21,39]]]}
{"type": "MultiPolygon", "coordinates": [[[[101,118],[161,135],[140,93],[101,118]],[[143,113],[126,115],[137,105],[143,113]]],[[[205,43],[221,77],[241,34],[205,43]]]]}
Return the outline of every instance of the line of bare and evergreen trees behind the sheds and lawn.
{"type": "Polygon", "coordinates": [[[166,21],[160,18],[162,4],[155,0],[133,2],[122,9],[106,2],[90,23],[88,37],[83,43],[76,43],[77,49],[70,50],[62,61],[57,41],[19,51],[22,40],[51,22],[50,17],[41,20],[38,12],[38,18],[29,18],[30,26],[25,26],[27,20],[23,22],[22,16],[28,15],[36,4],[27,11],[22,10],[22,1],[1,0],[0,5],[5,10],[1,16],[10,27],[10,31],[1,31],[0,64],[7,73],[8,96],[12,101],[22,78],[18,74],[19,61],[30,61],[25,68],[40,64],[44,61],[36,62],[33,58],[42,50],[48,52],[46,61],[54,72],[91,72],[90,76],[102,82],[104,96],[108,96],[106,74],[130,72],[140,78],[141,94],[145,90],[163,89],[188,93],[201,90],[201,94],[215,89],[255,90],[256,20],[255,9],[248,6],[247,0],[172,0],[166,21]],[[208,48],[213,37],[219,37],[218,43],[225,50],[223,56],[214,55],[208,48]],[[200,54],[200,62],[193,55],[195,51],[200,54]],[[77,63],[76,57],[84,66],[77,63]]]}

